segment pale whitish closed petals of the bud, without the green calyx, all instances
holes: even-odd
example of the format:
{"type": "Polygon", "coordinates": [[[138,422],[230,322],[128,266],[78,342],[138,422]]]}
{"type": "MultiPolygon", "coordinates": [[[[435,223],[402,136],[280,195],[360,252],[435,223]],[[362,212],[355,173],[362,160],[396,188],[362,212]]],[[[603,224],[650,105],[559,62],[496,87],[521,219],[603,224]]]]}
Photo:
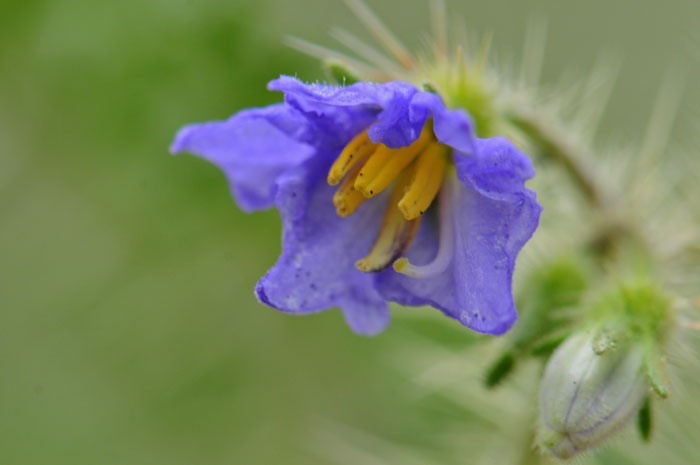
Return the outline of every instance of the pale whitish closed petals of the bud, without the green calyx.
{"type": "Polygon", "coordinates": [[[648,391],[641,344],[597,354],[594,335],[571,336],[552,355],[540,389],[540,443],[568,459],[594,447],[634,417],[648,391]]]}

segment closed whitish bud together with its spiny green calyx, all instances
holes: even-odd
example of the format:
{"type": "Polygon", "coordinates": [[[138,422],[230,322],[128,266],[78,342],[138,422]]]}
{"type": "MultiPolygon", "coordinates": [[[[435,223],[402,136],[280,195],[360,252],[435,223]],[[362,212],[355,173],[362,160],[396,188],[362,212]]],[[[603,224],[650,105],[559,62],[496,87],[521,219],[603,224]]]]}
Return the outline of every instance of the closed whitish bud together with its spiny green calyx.
{"type": "Polygon", "coordinates": [[[540,389],[540,445],[568,459],[595,447],[635,415],[651,435],[650,388],[668,396],[663,356],[670,299],[648,283],[620,285],[590,309],[547,363],[540,389]]]}

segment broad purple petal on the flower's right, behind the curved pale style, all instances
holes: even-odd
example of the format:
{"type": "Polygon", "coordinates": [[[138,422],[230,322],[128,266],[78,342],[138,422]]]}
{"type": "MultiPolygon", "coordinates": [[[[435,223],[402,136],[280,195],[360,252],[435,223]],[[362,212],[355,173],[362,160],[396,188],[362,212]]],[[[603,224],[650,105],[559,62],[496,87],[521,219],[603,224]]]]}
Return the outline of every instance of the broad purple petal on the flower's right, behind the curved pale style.
{"type": "MultiPolygon", "coordinates": [[[[394,271],[385,271],[377,279],[388,300],[432,305],[488,334],[504,333],[517,318],[511,290],[515,258],[537,227],[542,210],[535,193],[524,187],[527,170],[512,169],[520,167],[517,160],[503,160],[508,153],[517,158],[519,152],[514,154],[502,144],[502,151],[487,152],[495,147],[494,141],[487,141],[479,147],[479,156],[464,157],[470,164],[461,168],[462,182],[454,178],[448,181],[455,189],[452,211],[441,211],[440,215],[452,218],[453,231],[447,235],[453,240],[450,266],[419,279],[394,271]],[[498,166],[504,166],[505,171],[498,166]]],[[[456,162],[459,157],[455,155],[456,162]]],[[[457,169],[459,173],[460,167],[457,169]]],[[[435,258],[436,229],[434,224],[421,228],[406,254],[411,263],[425,265],[435,258]]]]}

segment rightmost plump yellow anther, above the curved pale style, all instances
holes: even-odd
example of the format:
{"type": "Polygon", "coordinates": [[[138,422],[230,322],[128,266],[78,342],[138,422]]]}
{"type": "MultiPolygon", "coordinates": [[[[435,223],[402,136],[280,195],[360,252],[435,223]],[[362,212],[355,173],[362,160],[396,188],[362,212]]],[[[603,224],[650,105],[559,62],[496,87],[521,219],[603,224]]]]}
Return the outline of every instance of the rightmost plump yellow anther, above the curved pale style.
{"type": "Polygon", "coordinates": [[[404,218],[412,220],[421,216],[435,199],[447,166],[447,148],[430,144],[413,164],[413,178],[408,190],[399,201],[404,218]]]}

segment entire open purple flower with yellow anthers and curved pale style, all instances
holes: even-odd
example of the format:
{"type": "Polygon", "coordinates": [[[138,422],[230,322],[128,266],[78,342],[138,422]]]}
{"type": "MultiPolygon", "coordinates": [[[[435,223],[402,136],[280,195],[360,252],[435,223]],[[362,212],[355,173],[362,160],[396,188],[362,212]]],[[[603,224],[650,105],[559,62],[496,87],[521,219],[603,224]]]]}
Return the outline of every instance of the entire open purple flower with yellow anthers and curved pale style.
{"type": "Polygon", "coordinates": [[[268,88],[285,102],[187,126],[171,147],[221,168],[245,211],[279,210],[283,250],[257,284],[261,302],[339,307],[361,334],[386,327],[388,301],[479,332],[512,326],[515,258],[541,211],[526,156],[405,82],[268,88]]]}

